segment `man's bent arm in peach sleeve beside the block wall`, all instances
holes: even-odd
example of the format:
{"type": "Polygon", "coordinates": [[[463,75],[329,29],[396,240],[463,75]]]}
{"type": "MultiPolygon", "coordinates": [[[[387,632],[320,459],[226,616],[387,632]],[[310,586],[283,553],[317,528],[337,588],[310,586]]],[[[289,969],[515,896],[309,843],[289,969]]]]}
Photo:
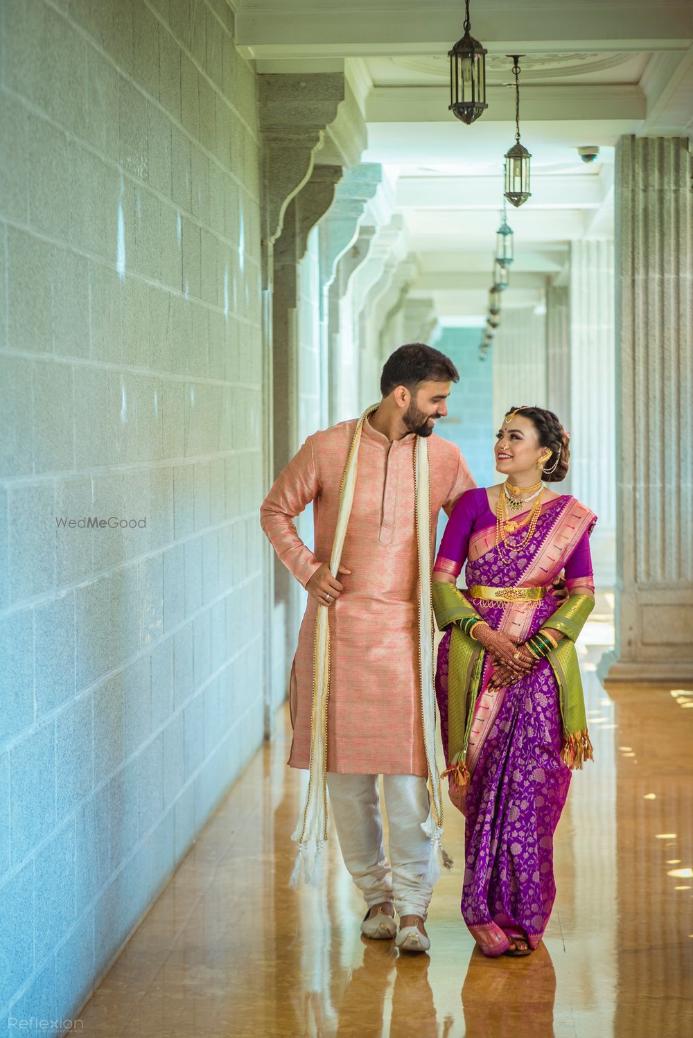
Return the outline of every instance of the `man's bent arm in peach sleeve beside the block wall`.
{"type": "Polygon", "coordinates": [[[260,526],[289,573],[305,588],[321,561],[299,537],[294,519],[320,494],[320,480],[309,436],[292,458],[260,507],[260,526]]]}

